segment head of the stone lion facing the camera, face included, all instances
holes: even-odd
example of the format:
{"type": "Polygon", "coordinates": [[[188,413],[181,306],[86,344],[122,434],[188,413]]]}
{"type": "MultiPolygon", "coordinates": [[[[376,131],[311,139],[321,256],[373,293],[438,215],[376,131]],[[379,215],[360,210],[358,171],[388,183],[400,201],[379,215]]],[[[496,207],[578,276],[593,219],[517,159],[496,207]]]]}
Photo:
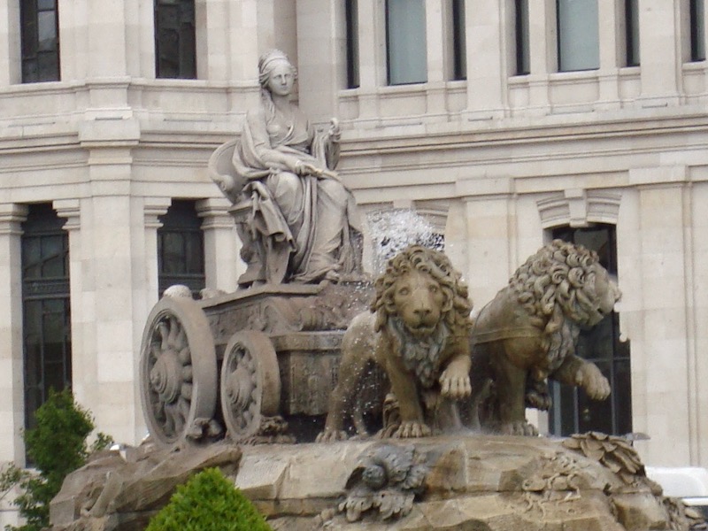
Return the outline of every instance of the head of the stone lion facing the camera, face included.
{"type": "Polygon", "coordinates": [[[412,335],[430,335],[440,322],[453,334],[466,334],[470,327],[467,287],[441,251],[408,247],[389,260],[374,286],[377,331],[394,316],[412,335]]]}

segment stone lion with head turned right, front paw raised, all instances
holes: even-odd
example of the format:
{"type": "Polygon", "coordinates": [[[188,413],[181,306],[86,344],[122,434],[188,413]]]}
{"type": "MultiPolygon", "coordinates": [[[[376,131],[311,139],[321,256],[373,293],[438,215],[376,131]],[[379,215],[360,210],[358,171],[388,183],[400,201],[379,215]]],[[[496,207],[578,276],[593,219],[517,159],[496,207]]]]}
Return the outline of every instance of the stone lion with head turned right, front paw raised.
{"type": "Polygon", "coordinates": [[[575,356],[575,345],[581,328],[594,327],[619,300],[594,251],[554,240],[528,258],[475,319],[471,426],[537,435],[525,408],[548,409],[548,377],[592,399],[609,396],[609,382],[575,356]]]}

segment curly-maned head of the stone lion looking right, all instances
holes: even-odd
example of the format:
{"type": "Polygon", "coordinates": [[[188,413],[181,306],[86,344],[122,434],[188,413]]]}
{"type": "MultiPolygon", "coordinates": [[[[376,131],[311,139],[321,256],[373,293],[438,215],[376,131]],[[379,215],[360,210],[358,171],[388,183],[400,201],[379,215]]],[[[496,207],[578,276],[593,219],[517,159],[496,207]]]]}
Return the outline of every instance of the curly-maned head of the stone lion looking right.
{"type": "Polygon", "coordinates": [[[574,350],[580,328],[595,326],[621,296],[595,251],[562,240],[528,258],[510,285],[530,324],[543,330],[550,358],[559,360],[574,350]]]}

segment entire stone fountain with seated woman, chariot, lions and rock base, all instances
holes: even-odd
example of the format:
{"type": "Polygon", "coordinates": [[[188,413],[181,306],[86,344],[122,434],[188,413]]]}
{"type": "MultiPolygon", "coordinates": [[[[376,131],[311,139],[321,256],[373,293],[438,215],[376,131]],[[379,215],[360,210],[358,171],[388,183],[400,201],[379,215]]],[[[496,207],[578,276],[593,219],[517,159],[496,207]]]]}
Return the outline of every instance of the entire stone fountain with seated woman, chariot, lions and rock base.
{"type": "Polygon", "coordinates": [[[335,172],[336,120],[327,131],[271,127],[261,139],[270,149],[257,149],[264,112],[275,123],[299,116],[279,96],[291,83],[269,81],[287,80],[287,58],[271,52],[259,67],[266,110],[210,161],[244,242],[242,289],[193,300],[173,288],[156,304],[140,363],[150,437],[70,474],[51,504],[53,531],[142,529],[209,466],[288,531],[704,525],[663,496],[626,439],[555,440],[527,423],[526,407],[549,406],[549,379],[609,393],[574,355],[580,328],[620,297],[596,255],[551,242],[476,322],[434,240],[397,246],[368,280],[356,210],[335,172]],[[305,139],[312,145],[298,151],[305,139]],[[323,222],[337,228],[327,244],[311,230],[323,222]]]}

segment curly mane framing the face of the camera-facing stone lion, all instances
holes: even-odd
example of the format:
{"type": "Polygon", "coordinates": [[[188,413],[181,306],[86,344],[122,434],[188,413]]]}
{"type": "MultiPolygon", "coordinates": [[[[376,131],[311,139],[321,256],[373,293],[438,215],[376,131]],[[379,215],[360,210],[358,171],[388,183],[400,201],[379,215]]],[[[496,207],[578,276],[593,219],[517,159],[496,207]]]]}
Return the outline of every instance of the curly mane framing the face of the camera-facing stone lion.
{"type": "Polygon", "coordinates": [[[467,337],[472,328],[469,319],[472,302],[465,282],[443,252],[412,245],[389,260],[374,288],[371,311],[376,314],[375,330],[385,330],[392,337],[405,366],[417,374],[424,387],[430,387],[437,381],[439,356],[450,336],[467,337]],[[407,332],[398,319],[393,297],[396,279],[416,269],[438,282],[445,296],[439,326],[430,337],[423,339],[413,339],[407,332]]]}

